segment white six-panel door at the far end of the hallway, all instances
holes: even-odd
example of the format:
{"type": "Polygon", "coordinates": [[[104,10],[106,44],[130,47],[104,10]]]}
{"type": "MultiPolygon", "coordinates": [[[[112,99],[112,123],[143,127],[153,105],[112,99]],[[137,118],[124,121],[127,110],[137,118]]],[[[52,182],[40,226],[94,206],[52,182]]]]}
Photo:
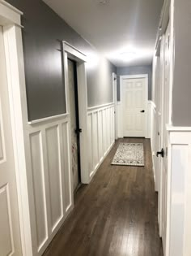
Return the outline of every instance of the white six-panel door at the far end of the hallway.
{"type": "Polygon", "coordinates": [[[146,137],[146,78],[122,79],[123,137],[146,137]]]}

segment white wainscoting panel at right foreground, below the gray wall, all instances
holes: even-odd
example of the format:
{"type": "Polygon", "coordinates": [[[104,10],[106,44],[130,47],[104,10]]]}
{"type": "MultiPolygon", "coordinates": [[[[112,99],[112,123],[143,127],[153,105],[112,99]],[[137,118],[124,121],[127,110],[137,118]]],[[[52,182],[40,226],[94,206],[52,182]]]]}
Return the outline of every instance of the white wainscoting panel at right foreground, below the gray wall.
{"type": "Polygon", "coordinates": [[[191,255],[191,128],[168,126],[168,250],[191,255]]]}

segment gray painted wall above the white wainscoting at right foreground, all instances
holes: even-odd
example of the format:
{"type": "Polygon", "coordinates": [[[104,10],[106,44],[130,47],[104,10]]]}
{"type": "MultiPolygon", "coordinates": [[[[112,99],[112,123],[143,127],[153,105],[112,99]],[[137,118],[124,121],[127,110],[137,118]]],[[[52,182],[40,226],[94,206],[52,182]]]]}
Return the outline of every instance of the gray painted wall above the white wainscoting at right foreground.
{"type": "Polygon", "coordinates": [[[175,0],[172,124],[191,126],[191,1],[175,0]]]}

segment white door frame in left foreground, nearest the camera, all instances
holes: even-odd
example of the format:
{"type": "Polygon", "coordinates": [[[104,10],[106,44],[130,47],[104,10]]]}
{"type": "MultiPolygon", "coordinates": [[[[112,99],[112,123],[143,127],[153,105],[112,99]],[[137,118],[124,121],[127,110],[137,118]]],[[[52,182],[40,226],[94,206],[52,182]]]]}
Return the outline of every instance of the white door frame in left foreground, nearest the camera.
{"type": "Polygon", "coordinates": [[[21,15],[23,15],[21,11],[12,7],[6,1],[0,0],[0,25],[3,28],[6,53],[6,73],[11,112],[22,253],[23,256],[32,256],[27,164],[23,132],[23,119],[28,116],[28,113],[27,108],[24,106],[24,97],[22,97],[26,91],[21,15]]]}

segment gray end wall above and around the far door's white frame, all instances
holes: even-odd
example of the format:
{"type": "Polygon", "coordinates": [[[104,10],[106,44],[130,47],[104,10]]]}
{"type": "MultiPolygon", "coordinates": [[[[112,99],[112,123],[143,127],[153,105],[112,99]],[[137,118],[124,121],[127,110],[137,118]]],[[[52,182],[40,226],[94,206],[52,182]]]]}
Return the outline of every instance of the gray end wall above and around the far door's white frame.
{"type": "Polygon", "coordinates": [[[152,66],[117,67],[117,101],[120,101],[120,77],[148,74],[148,99],[152,98],[152,66]]]}

